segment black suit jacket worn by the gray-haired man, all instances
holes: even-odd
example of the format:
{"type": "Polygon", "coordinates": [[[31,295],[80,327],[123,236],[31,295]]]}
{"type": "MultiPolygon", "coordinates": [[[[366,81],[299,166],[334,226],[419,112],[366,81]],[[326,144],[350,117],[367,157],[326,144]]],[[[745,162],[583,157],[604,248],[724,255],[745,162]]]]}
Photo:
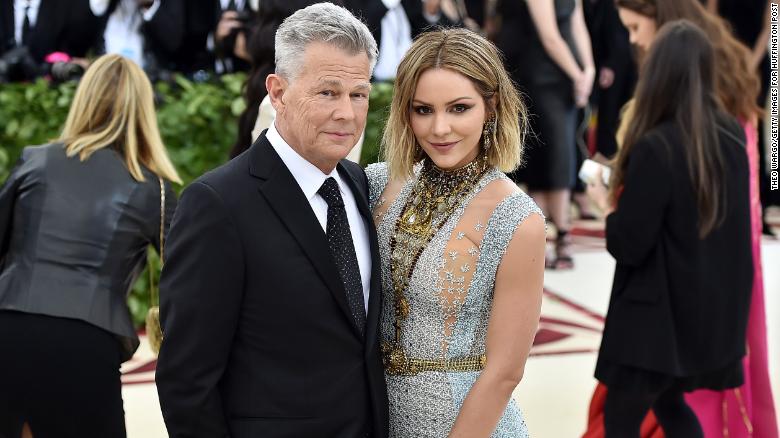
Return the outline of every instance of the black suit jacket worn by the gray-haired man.
{"type": "Polygon", "coordinates": [[[171,437],[387,435],[368,183],[357,164],[338,171],[370,235],[365,339],[325,233],[265,135],[182,194],[160,284],[157,388],[171,437]]]}

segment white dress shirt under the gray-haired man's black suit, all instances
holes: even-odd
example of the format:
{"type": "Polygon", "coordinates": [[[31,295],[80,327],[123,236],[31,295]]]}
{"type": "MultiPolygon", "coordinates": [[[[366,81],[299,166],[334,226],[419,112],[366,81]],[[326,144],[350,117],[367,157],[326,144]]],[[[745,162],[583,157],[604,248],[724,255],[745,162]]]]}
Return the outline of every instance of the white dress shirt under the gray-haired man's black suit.
{"type": "Polygon", "coordinates": [[[274,123],[268,127],[265,133],[266,138],[273,146],[274,150],[292,173],[293,178],[300,186],[304,196],[309,201],[314,215],[322,226],[323,232],[327,232],[328,223],[328,204],[317,191],[329,177],[333,177],[339,185],[341,197],[344,199],[344,208],[347,210],[347,221],[352,233],[352,242],[355,245],[355,255],[357,256],[358,266],[360,267],[360,280],[363,285],[363,303],[366,313],[368,313],[368,295],[371,290],[371,247],[368,240],[368,229],[363,216],[360,215],[355,195],[349,188],[349,185],[341,178],[338,170],[333,169],[330,174],[324,174],[315,165],[306,161],[282,138],[279,131],[276,130],[274,123]]]}

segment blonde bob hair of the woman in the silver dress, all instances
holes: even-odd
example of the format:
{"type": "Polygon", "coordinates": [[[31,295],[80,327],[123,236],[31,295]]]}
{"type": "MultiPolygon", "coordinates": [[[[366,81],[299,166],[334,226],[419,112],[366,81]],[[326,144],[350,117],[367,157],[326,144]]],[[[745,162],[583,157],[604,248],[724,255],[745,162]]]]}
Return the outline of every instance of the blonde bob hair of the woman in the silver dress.
{"type": "Polygon", "coordinates": [[[412,131],[411,112],[417,82],[432,68],[446,68],[471,79],[485,101],[488,117],[496,118],[488,162],[504,172],[516,169],[523,156],[528,114],[504,69],[501,53],[472,31],[440,29],[417,37],[398,65],[390,116],[382,137],[382,155],[391,177],[408,178],[414,165],[425,157],[412,131]]]}

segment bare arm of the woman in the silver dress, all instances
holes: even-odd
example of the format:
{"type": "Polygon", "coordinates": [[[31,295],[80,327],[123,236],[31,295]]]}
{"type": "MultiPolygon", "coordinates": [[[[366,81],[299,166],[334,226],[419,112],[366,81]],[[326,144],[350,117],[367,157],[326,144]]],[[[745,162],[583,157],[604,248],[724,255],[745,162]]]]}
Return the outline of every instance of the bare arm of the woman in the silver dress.
{"type": "Polygon", "coordinates": [[[486,341],[485,369],[471,387],[450,438],[489,437],[520,379],[531,350],[542,302],[544,219],[527,217],[498,267],[486,341]]]}

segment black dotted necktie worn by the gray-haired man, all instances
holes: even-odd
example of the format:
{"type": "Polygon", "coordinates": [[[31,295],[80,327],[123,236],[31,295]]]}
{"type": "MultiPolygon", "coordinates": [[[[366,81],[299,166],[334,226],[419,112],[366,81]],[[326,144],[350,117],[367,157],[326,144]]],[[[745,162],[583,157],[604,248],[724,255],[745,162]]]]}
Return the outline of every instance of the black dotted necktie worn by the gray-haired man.
{"type": "Polygon", "coordinates": [[[347,303],[355,318],[360,334],[366,326],[366,309],[363,300],[363,283],[360,280],[360,267],[357,263],[352,233],[349,231],[347,210],[339,192],[339,185],[333,177],[325,180],[317,193],[328,203],[328,225],[326,235],[328,246],[347,292],[347,303]]]}

